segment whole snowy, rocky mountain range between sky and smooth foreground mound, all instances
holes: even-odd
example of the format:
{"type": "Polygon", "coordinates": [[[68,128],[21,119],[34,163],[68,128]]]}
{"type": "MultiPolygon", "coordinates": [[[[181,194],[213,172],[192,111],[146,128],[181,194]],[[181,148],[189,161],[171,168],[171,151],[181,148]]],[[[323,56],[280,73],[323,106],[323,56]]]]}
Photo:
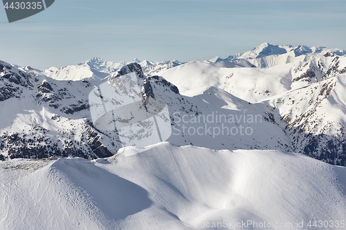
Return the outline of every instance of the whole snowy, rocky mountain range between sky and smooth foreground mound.
{"type": "MultiPolygon", "coordinates": [[[[172,125],[167,141],[172,144],[294,151],[346,165],[345,51],[262,44],[223,60],[253,63],[248,66],[218,66],[221,59],[213,61],[159,64],[135,59],[114,64],[93,58],[66,67],[67,72],[57,70],[65,71],[70,80],[1,62],[1,154],[12,158],[113,155],[122,147],[122,135],[93,125],[89,93],[95,86],[135,73],[141,79],[143,102],[156,98],[167,102],[172,125]],[[288,56],[293,58],[282,63],[288,56]],[[264,59],[271,66],[253,66],[264,59]],[[206,121],[208,115],[211,121],[206,121]],[[245,128],[251,135],[241,134],[245,128]]],[[[131,92],[134,89],[129,97],[131,92]]],[[[144,126],[147,132],[152,125],[144,126]]],[[[138,133],[131,135],[140,139],[138,133]]]]}

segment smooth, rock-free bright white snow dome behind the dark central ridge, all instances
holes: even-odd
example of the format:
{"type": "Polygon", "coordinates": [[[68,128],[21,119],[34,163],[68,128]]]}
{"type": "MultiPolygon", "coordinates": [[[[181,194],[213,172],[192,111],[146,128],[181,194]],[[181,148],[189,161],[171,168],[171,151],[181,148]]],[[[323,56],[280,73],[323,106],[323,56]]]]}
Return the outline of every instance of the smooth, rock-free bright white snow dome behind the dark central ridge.
{"type": "Polygon", "coordinates": [[[224,68],[192,61],[158,75],[176,85],[183,95],[193,96],[215,86],[255,103],[291,89],[291,64],[272,68],[224,68]],[[197,80],[198,79],[198,80],[197,80]]]}

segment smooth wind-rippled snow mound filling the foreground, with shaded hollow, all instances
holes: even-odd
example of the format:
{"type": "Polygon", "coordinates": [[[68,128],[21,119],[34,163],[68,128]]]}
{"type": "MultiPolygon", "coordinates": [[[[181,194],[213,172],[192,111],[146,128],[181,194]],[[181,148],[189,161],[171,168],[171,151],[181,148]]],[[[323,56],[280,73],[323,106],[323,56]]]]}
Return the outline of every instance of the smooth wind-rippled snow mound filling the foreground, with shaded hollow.
{"type": "Polygon", "coordinates": [[[94,162],[11,160],[0,171],[0,229],[309,229],[310,220],[345,220],[346,169],[281,151],[161,143],[94,162]]]}

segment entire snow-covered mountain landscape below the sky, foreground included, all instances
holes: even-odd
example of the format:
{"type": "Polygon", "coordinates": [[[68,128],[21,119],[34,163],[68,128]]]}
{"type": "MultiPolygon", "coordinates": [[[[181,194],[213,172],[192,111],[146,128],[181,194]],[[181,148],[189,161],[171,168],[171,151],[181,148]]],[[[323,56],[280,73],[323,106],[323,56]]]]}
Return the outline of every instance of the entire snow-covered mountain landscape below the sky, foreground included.
{"type": "Polygon", "coordinates": [[[322,47],[0,61],[0,229],[345,229],[345,92],[346,52],[322,47]],[[172,134],[126,146],[153,130],[172,134]]]}

